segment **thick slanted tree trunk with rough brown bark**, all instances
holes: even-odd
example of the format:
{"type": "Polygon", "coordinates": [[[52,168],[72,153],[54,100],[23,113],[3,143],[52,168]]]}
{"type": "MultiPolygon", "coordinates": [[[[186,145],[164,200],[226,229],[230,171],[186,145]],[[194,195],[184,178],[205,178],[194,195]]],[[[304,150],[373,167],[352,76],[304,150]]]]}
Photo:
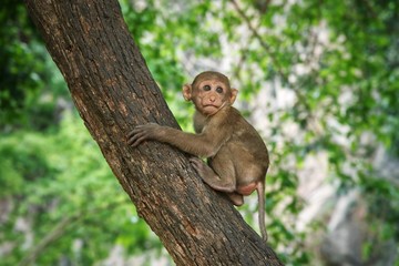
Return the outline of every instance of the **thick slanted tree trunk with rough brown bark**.
{"type": "MultiPolygon", "coordinates": [[[[123,21],[116,0],[27,0],[33,22],[119,182],[177,265],[282,265],[187,156],[146,142],[137,124],[178,126],[123,21]]],[[[106,198],[104,198],[106,201],[106,198]]]]}

